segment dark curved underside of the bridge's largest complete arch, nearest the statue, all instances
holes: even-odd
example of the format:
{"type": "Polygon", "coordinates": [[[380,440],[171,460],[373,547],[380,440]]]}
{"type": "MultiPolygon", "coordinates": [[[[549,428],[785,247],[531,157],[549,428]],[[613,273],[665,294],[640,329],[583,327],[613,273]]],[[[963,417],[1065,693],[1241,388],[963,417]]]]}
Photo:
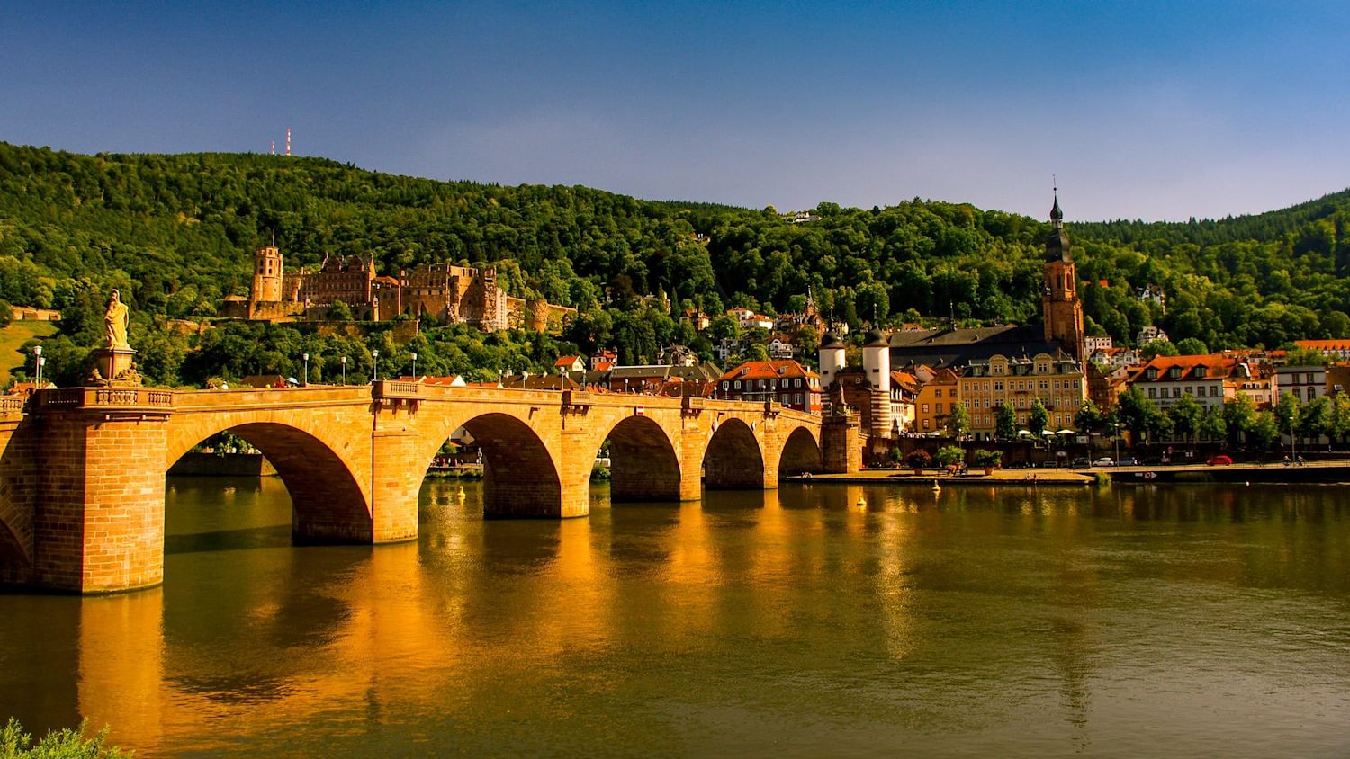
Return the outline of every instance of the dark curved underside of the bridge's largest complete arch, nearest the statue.
{"type": "Polygon", "coordinates": [[[215,430],[234,433],[262,452],[285,483],[292,502],[292,537],[297,542],[370,543],[374,523],[366,496],[348,468],[327,444],[278,422],[250,422],[215,430]]]}

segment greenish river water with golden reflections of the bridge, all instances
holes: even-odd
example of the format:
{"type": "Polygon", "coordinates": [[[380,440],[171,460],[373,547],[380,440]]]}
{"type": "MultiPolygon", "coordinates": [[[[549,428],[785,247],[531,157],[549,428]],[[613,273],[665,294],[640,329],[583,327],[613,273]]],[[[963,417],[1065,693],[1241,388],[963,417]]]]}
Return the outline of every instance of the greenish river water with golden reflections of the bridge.
{"type": "Polygon", "coordinates": [[[165,584],[0,596],[0,719],[157,755],[1345,756],[1336,487],[784,485],[290,545],[169,480],[165,584]],[[859,502],[864,502],[860,504],[859,502]]]}

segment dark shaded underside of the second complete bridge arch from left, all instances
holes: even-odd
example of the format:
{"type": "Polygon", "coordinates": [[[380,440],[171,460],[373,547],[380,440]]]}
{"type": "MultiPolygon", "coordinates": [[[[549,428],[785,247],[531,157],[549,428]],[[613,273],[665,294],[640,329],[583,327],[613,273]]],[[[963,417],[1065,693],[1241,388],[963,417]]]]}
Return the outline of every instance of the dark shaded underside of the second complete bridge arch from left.
{"type": "Polygon", "coordinates": [[[459,426],[483,450],[483,516],[556,518],[562,512],[558,466],[529,425],[509,414],[491,413],[459,426]]]}

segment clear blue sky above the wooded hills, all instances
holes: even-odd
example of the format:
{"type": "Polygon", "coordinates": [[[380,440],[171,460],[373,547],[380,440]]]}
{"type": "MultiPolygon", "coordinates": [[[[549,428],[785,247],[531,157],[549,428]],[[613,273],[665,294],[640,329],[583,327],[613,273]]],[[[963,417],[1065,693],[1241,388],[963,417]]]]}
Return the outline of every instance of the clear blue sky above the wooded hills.
{"type": "Polygon", "coordinates": [[[0,140],[780,210],[1350,186],[1350,3],[8,3],[0,140]]]}

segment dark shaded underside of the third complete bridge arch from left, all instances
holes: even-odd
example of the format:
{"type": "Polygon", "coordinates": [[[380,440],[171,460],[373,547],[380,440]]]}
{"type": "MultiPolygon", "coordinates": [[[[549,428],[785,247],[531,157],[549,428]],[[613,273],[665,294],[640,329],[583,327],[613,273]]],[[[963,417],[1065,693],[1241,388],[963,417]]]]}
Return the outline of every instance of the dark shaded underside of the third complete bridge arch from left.
{"type": "Polygon", "coordinates": [[[609,430],[610,502],[679,500],[679,457],[670,435],[648,417],[626,417],[609,430]]]}

